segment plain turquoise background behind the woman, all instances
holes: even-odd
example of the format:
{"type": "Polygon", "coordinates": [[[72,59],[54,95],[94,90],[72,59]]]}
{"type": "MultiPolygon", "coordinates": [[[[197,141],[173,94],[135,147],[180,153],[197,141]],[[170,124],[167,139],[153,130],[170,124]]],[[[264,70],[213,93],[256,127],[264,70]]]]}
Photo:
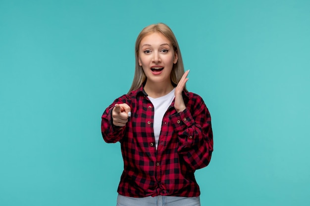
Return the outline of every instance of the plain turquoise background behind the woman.
{"type": "Polygon", "coordinates": [[[310,205],[309,0],[0,0],[0,205],[114,206],[100,130],[164,22],[211,113],[202,206],[310,205]]]}

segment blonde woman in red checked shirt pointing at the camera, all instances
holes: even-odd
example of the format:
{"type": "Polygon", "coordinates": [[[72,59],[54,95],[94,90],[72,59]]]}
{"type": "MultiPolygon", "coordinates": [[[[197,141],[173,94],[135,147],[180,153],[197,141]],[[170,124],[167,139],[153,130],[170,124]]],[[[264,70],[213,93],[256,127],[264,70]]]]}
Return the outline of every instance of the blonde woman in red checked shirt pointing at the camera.
{"type": "Polygon", "coordinates": [[[129,92],[102,116],[105,142],[120,142],[124,170],[117,206],[200,206],[194,172],[209,164],[211,118],[203,99],[188,92],[178,42],[162,23],[136,41],[129,92]]]}

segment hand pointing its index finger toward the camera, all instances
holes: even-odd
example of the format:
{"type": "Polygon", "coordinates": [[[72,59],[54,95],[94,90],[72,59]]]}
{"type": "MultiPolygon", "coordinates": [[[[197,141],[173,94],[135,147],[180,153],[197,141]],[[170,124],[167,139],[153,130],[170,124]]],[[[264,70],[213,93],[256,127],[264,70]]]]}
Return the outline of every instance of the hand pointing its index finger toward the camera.
{"type": "Polygon", "coordinates": [[[130,115],[131,109],[128,104],[115,104],[115,107],[112,110],[113,124],[115,126],[125,126],[130,115]]]}

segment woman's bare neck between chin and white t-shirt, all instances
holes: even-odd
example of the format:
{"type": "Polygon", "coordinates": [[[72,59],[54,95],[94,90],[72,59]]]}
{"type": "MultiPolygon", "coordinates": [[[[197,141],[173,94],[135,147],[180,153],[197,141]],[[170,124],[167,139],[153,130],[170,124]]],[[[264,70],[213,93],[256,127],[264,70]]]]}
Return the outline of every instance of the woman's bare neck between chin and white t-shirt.
{"type": "Polygon", "coordinates": [[[147,81],[143,88],[150,97],[157,98],[168,94],[170,91],[172,91],[174,86],[171,82],[151,83],[147,81]]]}

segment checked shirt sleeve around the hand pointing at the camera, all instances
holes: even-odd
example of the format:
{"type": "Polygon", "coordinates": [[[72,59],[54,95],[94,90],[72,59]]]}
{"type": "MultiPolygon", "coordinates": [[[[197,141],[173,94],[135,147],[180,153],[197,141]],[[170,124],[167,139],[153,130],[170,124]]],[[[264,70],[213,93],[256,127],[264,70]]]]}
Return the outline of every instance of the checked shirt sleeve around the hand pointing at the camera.
{"type": "Polygon", "coordinates": [[[114,100],[114,102],[110,106],[108,106],[103,112],[103,115],[101,118],[102,119],[101,120],[101,133],[103,136],[103,140],[107,143],[118,142],[123,138],[125,134],[126,126],[115,126],[113,124],[113,119],[112,119],[112,110],[115,104],[122,104],[122,103],[128,104],[126,95],[123,95],[119,97],[118,99],[114,100]]]}

